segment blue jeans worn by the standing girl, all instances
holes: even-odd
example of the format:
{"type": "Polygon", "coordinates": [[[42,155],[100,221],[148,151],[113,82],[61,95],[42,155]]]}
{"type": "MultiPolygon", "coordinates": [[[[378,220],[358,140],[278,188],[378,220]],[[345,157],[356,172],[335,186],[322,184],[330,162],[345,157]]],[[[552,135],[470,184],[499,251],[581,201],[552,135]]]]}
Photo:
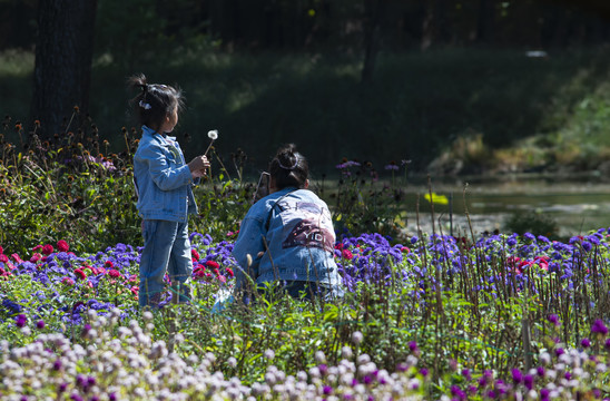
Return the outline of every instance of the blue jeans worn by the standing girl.
{"type": "MultiPolygon", "coordinates": [[[[173,288],[180,288],[180,302],[188,302],[186,281],[193,274],[188,224],[159,219],[142,222],[144,251],[140,256],[139,305],[158,306],[169,274],[173,288]],[[179,284],[179,285],[178,285],[179,284]]],[[[173,299],[178,294],[173,293],[173,299]]]]}

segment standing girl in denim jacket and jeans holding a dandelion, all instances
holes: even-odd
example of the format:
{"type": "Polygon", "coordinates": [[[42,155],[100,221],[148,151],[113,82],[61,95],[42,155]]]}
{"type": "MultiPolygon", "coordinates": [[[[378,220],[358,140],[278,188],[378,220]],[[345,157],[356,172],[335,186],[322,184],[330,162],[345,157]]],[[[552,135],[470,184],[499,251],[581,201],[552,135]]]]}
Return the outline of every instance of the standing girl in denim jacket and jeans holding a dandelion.
{"type": "Polygon", "coordinates": [[[137,208],[142,221],[144,251],[140,256],[139,304],[158,307],[169,274],[173,300],[188,302],[186,284],[193,273],[188,215],[197,213],[191,186],[209,163],[197,156],[186,163],[171,133],[183,108],[180,90],[147,84],[144,75],[128,80],[140,92],[132,99],[142,125],[142,137],[134,156],[137,208]]]}

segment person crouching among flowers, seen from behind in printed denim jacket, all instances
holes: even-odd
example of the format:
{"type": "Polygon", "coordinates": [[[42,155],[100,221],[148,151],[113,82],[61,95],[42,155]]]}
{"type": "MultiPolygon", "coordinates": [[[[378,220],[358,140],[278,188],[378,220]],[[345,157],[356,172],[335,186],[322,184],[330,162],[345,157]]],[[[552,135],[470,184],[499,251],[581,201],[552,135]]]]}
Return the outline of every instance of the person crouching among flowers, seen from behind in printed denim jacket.
{"type": "Polygon", "coordinates": [[[248,275],[258,286],[278,282],[294,297],[343,296],[331,212],[307,189],[307,160],[294,145],[284,146],[269,174],[270,194],[250,207],[233,248],[240,267],[236,290],[246,290],[248,275]]]}

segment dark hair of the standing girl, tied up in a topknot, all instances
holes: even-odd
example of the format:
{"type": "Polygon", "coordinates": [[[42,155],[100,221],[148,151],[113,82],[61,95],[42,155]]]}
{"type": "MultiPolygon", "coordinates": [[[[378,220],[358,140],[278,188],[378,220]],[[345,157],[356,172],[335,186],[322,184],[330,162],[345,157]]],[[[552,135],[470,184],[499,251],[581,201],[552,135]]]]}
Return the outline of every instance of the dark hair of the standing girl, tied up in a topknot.
{"type": "Polygon", "coordinates": [[[140,92],[131,99],[138,121],[159,129],[164,119],[174,109],[184,107],[183,91],[168,85],[148,84],[144,74],[130,77],[127,85],[140,92]]]}

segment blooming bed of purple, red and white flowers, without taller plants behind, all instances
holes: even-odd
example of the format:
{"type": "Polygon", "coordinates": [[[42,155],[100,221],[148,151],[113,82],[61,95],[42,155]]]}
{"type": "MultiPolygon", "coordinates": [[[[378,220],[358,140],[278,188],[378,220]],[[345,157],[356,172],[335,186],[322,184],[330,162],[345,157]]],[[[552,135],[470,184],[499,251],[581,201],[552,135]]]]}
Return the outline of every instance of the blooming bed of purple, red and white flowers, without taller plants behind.
{"type": "MultiPolygon", "coordinates": [[[[344,300],[230,291],[233,243],[194,233],[191,305],[137,307],[139,248],[0,253],[3,399],[601,399],[608,232],[335,246],[344,300]],[[524,340],[528,339],[528,343],[524,340]]],[[[169,287],[169,286],[168,286],[169,287]]]]}

